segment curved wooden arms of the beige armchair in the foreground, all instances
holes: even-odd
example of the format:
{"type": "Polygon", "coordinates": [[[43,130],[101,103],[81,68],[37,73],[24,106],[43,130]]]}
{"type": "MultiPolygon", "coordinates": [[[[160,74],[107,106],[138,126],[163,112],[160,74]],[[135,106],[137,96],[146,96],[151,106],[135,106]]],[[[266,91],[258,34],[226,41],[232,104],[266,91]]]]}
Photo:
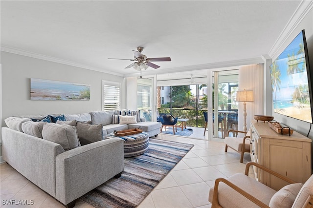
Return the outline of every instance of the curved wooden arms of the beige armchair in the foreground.
{"type": "MultiPolygon", "coordinates": [[[[250,166],[256,166],[290,184],[294,184],[297,183],[275,171],[272,171],[264,166],[261,166],[257,163],[254,162],[248,162],[246,164],[246,170],[245,170],[245,175],[248,176],[249,174],[249,168],[250,166]]],[[[263,202],[261,202],[260,200],[258,200],[257,198],[255,198],[254,196],[252,196],[251,194],[247,193],[245,190],[241,189],[240,187],[237,187],[236,185],[234,185],[233,183],[229,182],[227,179],[225,178],[218,178],[215,180],[215,185],[214,185],[214,191],[213,191],[213,200],[212,200],[212,208],[222,208],[221,205],[219,204],[219,198],[218,198],[218,188],[219,188],[219,183],[222,182],[224,184],[226,184],[227,186],[233,188],[235,191],[237,191],[238,193],[240,193],[241,195],[243,195],[244,197],[246,197],[247,199],[249,199],[251,202],[253,202],[254,204],[258,205],[259,207],[262,208],[269,208],[268,205],[264,204],[263,202]]],[[[310,200],[312,200],[312,196],[309,197],[309,199],[307,200],[307,204],[309,204],[310,200]]]]}

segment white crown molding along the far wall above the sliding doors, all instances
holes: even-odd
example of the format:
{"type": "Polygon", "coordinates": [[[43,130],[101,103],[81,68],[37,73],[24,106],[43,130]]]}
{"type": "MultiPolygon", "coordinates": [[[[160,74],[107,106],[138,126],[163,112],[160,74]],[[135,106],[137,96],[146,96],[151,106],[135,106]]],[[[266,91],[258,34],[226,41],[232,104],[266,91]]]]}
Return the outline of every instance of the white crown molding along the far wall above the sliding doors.
{"type": "MultiPolygon", "coordinates": [[[[157,74],[168,74],[168,73],[179,73],[183,71],[196,71],[196,70],[204,70],[204,69],[214,69],[214,68],[224,68],[224,67],[237,67],[240,65],[248,65],[248,64],[257,64],[264,63],[261,57],[252,58],[252,59],[243,59],[243,60],[234,60],[228,62],[216,62],[216,63],[207,63],[207,64],[199,64],[199,65],[191,65],[191,66],[182,66],[176,68],[166,68],[166,69],[157,69],[142,71],[142,76],[149,75],[157,75],[157,74]]],[[[140,76],[140,72],[125,74],[125,77],[137,77],[140,76]]]]}

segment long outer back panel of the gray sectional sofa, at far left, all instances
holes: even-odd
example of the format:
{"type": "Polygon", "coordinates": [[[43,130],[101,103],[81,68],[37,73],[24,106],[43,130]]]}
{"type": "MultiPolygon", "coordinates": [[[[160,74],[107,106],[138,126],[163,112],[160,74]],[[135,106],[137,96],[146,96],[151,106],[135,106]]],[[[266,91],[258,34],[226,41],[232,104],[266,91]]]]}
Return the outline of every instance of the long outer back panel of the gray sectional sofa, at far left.
{"type": "Polygon", "coordinates": [[[56,197],[55,158],[61,145],[2,127],[2,156],[10,166],[51,196],[56,197]]]}

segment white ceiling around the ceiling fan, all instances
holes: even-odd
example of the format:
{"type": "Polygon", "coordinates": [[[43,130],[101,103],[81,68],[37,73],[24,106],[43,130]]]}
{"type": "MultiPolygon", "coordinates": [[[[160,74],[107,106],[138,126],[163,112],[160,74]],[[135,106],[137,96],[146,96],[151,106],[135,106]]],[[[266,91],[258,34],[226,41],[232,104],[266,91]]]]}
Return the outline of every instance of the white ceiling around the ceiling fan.
{"type": "Polygon", "coordinates": [[[186,71],[260,59],[299,4],[299,0],[1,0],[1,50],[127,77],[137,73],[124,69],[132,62],[108,58],[133,59],[132,50],[143,46],[148,58],[172,58],[154,62],[161,67],[149,67],[143,75],[186,71]]]}

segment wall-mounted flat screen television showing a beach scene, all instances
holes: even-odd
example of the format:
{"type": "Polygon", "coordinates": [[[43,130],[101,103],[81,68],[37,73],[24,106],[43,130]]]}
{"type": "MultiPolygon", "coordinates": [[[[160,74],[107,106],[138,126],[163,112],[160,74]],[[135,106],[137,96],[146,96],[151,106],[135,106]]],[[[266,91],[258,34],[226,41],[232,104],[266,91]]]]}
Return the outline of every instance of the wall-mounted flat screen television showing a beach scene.
{"type": "Polygon", "coordinates": [[[269,69],[274,112],[312,124],[312,84],[304,30],[269,69]]]}

